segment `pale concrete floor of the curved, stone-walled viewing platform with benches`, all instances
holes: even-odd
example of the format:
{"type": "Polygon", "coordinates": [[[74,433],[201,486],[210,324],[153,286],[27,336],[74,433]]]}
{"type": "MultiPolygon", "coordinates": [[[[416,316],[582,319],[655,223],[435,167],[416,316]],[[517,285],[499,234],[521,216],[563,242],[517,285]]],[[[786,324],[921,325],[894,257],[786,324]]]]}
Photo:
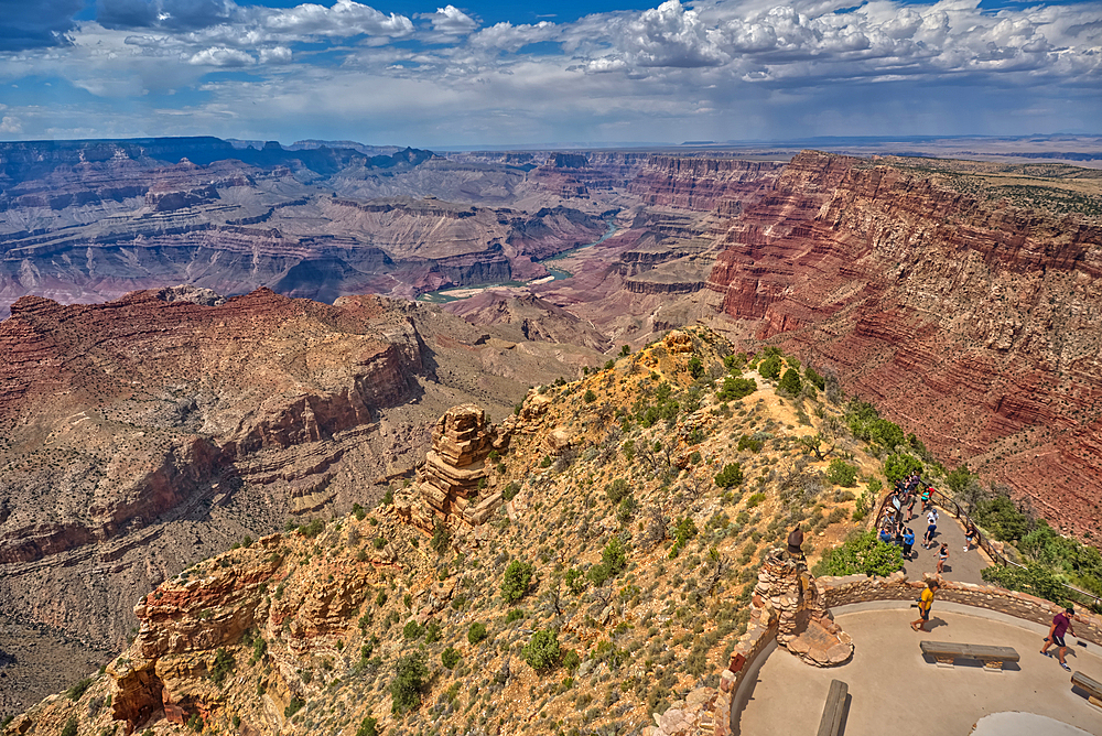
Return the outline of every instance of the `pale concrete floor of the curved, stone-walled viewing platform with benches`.
{"type": "MultiPolygon", "coordinates": [[[[852,660],[833,668],[809,667],[769,645],[771,651],[757,658],[732,703],[735,734],[817,733],[830,682],[838,679],[849,685],[852,699],[842,732],[846,736],[968,736],[991,714],[1007,715],[988,718],[982,726],[998,718],[1017,719],[1018,727],[996,728],[1007,736],[1042,736],[1044,727],[1027,724],[1051,723],[1049,718],[1073,727],[1060,726],[1061,734],[1078,728],[1102,736],[1102,708],[1072,691],[1071,672],[1061,669],[1056,657],[1039,653],[1048,632],[1045,626],[938,600],[926,634],[908,626],[918,616],[906,602],[854,604],[833,613],[853,639],[852,660]],[[922,657],[922,640],[1013,647],[1020,661],[1007,662],[1003,671],[966,660],[939,665],[922,657]],[[1009,715],[1015,712],[1034,715],[1009,715]]],[[[1067,640],[1071,669],[1102,681],[1102,648],[1072,636],[1067,640]]]]}

